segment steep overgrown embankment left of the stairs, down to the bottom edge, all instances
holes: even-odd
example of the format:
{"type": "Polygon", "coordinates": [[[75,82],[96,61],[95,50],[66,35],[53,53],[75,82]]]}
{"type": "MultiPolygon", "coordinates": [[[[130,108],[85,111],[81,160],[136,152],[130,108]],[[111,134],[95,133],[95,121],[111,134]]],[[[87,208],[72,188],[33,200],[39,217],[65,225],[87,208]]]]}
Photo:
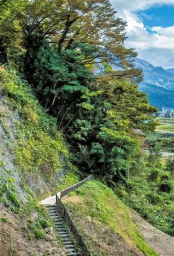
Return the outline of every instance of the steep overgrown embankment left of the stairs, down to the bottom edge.
{"type": "Polygon", "coordinates": [[[1,68],[0,255],[66,255],[37,198],[56,189],[67,154],[56,122],[13,70],[1,68]]]}

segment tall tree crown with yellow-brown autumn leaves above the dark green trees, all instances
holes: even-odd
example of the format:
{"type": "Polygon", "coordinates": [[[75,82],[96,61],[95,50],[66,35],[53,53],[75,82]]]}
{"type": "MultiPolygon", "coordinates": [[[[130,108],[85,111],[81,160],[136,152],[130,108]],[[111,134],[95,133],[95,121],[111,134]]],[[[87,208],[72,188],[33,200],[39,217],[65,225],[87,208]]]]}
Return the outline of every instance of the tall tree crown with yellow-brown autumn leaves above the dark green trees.
{"type": "Polygon", "coordinates": [[[28,1],[19,20],[24,32],[26,73],[30,80],[43,41],[55,44],[59,54],[74,49],[76,42],[96,46],[81,60],[83,65],[109,62],[115,71],[107,72],[107,76],[141,79],[141,72],[133,67],[131,60],[136,52],[124,45],[126,24],[116,17],[109,0],[28,1]]]}

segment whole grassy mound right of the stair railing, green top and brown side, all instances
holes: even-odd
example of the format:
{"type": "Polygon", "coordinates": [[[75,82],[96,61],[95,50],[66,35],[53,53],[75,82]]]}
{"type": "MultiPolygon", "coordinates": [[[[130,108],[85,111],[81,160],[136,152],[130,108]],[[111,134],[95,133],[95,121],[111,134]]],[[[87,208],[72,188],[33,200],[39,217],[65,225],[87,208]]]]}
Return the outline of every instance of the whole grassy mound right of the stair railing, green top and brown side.
{"type": "MultiPolygon", "coordinates": [[[[140,236],[129,209],[110,188],[100,182],[90,181],[77,189],[76,195],[75,198],[72,196],[72,200],[68,198],[64,202],[72,218],[81,227],[80,231],[93,255],[141,255],[136,249],[144,255],[157,255],[140,236]],[[101,228],[97,229],[99,226],[101,228]],[[123,237],[124,241],[129,244],[129,249],[125,249],[125,254],[121,254],[123,252],[119,250],[119,243],[122,243],[122,239],[118,237],[116,239],[116,234],[123,237]]],[[[124,248],[123,244],[122,248],[124,248]]]]}

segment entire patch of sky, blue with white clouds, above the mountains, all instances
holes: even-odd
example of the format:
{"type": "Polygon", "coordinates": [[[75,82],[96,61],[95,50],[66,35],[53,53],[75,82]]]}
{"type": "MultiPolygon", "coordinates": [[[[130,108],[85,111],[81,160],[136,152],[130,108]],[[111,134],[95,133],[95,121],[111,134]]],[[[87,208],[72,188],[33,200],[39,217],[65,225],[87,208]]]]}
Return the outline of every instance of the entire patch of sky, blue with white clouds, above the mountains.
{"type": "Polygon", "coordinates": [[[174,0],[111,0],[127,21],[126,46],[155,67],[174,67],[174,0]]]}

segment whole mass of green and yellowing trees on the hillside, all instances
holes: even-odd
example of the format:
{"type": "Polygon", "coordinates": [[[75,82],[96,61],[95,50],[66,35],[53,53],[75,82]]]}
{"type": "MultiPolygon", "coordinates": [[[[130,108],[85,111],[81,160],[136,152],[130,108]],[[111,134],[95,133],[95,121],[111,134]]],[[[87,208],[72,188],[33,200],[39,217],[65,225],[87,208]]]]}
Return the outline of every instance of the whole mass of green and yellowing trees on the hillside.
{"type": "Polygon", "coordinates": [[[135,130],[155,127],[125,26],[109,0],[0,1],[1,65],[17,69],[57,118],[73,163],[107,182],[129,175],[135,130]]]}

